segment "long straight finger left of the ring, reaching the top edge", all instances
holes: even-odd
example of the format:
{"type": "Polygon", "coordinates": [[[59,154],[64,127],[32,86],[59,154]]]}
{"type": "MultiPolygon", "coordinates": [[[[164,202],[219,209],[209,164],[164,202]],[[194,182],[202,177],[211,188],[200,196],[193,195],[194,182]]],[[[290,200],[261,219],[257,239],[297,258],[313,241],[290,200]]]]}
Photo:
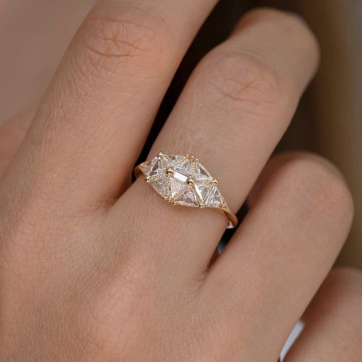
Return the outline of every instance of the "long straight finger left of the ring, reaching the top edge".
{"type": "Polygon", "coordinates": [[[99,1],[51,82],[13,177],[26,163],[44,195],[65,198],[67,206],[118,196],[172,75],[215,2],[99,1]]]}

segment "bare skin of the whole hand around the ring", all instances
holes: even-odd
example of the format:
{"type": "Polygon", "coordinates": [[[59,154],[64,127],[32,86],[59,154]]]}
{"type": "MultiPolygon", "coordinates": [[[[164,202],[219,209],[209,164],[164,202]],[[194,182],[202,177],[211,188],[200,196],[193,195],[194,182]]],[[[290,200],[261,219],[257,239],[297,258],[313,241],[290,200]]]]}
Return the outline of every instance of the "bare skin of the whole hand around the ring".
{"type": "Polygon", "coordinates": [[[249,195],[218,258],[219,213],[131,185],[214,5],[98,2],[35,116],[2,128],[1,361],[272,362],[305,311],[288,362],[360,360],[362,277],[327,277],[352,219],[345,182],[316,155],[268,161],[318,63],[302,21],[246,14],[197,66],[151,149],[196,155],[235,212],[249,195]]]}

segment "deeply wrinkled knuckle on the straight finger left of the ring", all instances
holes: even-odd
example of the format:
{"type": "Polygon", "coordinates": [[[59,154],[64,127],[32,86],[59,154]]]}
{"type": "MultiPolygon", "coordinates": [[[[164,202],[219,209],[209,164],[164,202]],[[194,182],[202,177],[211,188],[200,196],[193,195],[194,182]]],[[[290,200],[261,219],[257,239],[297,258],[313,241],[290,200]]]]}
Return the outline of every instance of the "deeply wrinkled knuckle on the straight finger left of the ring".
{"type": "Polygon", "coordinates": [[[151,76],[159,71],[170,44],[170,29],[156,15],[119,6],[95,9],[79,37],[85,60],[97,72],[151,76]]]}

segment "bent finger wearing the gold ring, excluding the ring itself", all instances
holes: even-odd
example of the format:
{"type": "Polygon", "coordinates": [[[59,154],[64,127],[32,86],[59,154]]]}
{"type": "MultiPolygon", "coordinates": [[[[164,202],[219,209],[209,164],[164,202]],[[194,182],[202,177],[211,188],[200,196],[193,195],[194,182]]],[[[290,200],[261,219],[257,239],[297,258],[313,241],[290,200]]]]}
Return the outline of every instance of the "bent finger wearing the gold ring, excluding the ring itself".
{"type": "MultiPolygon", "coordinates": [[[[274,10],[249,13],[198,65],[149,158],[159,150],[198,157],[219,179],[221,193],[235,212],[285,131],[317,59],[315,39],[304,23],[274,10]]],[[[114,217],[131,203],[141,205],[136,219],[152,215],[142,220],[152,232],[152,225],[167,220],[170,229],[162,230],[172,240],[166,244],[177,255],[180,248],[186,250],[189,262],[205,269],[225,228],[219,213],[171,208],[142,180],[119,201],[114,217]]]]}

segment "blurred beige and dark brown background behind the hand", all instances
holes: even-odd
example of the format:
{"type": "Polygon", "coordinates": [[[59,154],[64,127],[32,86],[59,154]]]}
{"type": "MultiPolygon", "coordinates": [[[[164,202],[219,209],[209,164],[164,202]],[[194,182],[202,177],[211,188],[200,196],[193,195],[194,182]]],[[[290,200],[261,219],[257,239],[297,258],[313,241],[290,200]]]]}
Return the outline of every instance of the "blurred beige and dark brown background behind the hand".
{"type": "MultiPolygon", "coordinates": [[[[24,108],[36,106],[72,35],[94,3],[0,0],[0,125],[24,108]]],[[[243,13],[257,6],[299,14],[319,39],[320,69],[276,151],[311,150],[332,160],[343,172],[353,193],[355,217],[337,263],[362,268],[362,1],[221,0],[180,65],[144,152],[193,67],[227,37],[243,13]]]]}

